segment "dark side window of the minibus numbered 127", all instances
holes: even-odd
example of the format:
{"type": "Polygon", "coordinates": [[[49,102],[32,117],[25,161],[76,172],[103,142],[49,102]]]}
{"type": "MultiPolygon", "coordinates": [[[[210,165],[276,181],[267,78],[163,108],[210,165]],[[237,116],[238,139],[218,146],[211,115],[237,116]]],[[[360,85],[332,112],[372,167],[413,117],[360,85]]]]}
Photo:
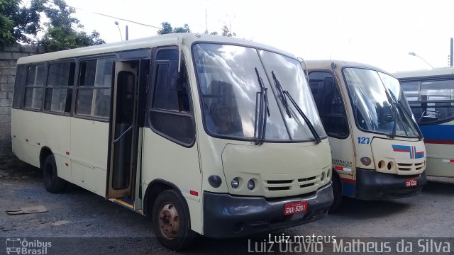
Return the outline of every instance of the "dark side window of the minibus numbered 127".
{"type": "Polygon", "coordinates": [[[345,138],[348,135],[348,122],[341,94],[333,83],[333,74],[311,72],[309,86],[326,134],[331,137],[345,138]]]}

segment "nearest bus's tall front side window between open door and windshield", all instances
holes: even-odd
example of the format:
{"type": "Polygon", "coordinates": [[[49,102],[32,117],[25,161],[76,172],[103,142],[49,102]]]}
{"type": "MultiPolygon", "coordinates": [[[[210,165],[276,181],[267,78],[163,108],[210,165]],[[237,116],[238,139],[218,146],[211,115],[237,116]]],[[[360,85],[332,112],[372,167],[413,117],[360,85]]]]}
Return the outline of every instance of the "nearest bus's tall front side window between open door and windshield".
{"type": "Polygon", "coordinates": [[[165,137],[191,145],[195,139],[189,100],[189,79],[184,60],[178,79],[178,51],[158,50],[155,57],[150,126],[165,137]]]}

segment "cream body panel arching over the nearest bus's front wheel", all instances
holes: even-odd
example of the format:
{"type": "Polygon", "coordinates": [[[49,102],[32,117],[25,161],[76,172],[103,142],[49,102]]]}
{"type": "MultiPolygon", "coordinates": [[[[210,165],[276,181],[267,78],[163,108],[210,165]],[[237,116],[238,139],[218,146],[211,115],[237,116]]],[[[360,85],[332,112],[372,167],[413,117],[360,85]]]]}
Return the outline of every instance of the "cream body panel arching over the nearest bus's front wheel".
{"type": "Polygon", "coordinates": [[[170,181],[187,201],[191,228],[202,233],[201,172],[197,144],[187,148],[143,129],[143,192],[155,179],[170,181]]]}

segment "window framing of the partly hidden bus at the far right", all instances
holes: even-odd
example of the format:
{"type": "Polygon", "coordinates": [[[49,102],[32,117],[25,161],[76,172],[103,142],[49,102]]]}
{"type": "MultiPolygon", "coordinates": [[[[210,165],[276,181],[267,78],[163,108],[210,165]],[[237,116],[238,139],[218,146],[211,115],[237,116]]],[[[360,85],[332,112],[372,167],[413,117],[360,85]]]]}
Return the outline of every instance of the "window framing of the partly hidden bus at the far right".
{"type": "MultiPolygon", "coordinates": [[[[407,97],[407,101],[409,102],[409,106],[411,108],[412,114],[413,114],[414,108],[423,110],[423,107],[422,107],[423,103],[454,103],[454,99],[452,99],[452,100],[421,100],[421,99],[419,99],[421,96],[421,84],[423,82],[427,82],[427,81],[453,81],[453,90],[454,90],[454,76],[453,75],[443,75],[440,77],[414,77],[414,78],[412,77],[412,78],[408,78],[408,79],[406,79],[406,78],[399,79],[399,82],[401,83],[401,86],[402,86],[402,91],[404,91],[403,84],[406,82],[419,83],[418,84],[418,99],[416,101],[409,101],[408,97],[407,97]],[[421,104],[421,106],[414,106],[414,104],[421,104]]],[[[404,91],[404,94],[405,94],[405,92],[406,91],[404,91]]],[[[426,106],[426,108],[429,108],[429,106],[426,106]]],[[[436,108],[436,107],[433,106],[430,108],[436,108]]],[[[439,107],[439,108],[454,108],[454,106],[439,107]]],[[[416,122],[420,126],[425,126],[425,125],[440,125],[443,123],[448,123],[453,120],[454,120],[454,114],[450,118],[445,118],[443,120],[434,120],[434,121],[428,121],[428,122],[424,122],[424,123],[419,123],[419,120],[416,120],[416,122]]]]}

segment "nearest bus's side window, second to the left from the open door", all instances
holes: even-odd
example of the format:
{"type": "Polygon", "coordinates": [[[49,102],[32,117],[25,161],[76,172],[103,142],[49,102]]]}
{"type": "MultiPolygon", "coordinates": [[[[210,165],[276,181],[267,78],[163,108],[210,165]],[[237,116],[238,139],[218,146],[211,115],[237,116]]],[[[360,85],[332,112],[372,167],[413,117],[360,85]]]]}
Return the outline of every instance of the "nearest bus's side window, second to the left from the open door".
{"type": "Polygon", "coordinates": [[[44,99],[45,111],[70,113],[75,67],[74,62],[49,65],[44,99]]]}

